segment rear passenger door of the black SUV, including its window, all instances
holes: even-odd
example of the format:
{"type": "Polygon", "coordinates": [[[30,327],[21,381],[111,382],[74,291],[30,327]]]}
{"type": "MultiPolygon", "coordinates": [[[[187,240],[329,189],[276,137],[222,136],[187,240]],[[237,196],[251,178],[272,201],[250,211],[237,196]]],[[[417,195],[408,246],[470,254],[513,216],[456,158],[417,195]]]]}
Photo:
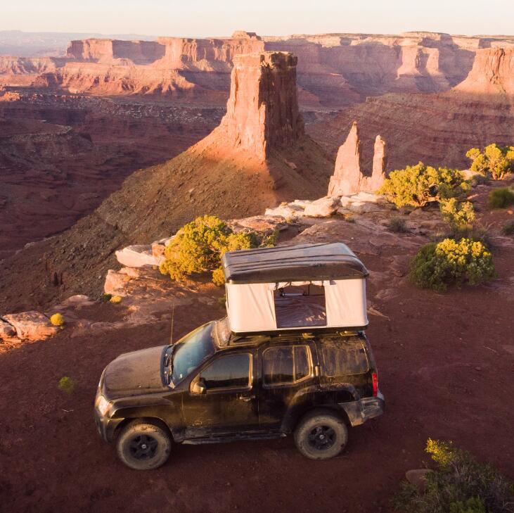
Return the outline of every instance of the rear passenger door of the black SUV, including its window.
{"type": "Polygon", "coordinates": [[[259,425],[281,428],[286,414],[309,401],[317,382],[315,346],[310,341],[259,348],[259,425]]]}

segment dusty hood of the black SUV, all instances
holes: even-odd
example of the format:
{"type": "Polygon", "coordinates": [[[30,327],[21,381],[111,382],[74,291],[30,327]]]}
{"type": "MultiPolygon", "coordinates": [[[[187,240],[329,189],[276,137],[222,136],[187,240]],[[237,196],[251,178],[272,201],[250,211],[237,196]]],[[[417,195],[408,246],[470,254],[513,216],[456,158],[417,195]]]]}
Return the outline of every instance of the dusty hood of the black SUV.
{"type": "Polygon", "coordinates": [[[124,353],[110,362],[101,388],[109,399],[168,390],[162,384],[161,366],[167,346],[124,353]]]}

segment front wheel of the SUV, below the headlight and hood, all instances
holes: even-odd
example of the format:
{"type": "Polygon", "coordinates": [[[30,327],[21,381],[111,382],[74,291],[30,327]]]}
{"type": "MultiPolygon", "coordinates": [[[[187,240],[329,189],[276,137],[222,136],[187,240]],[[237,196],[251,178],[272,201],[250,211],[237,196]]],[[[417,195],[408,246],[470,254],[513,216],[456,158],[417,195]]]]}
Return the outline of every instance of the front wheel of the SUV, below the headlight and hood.
{"type": "Polygon", "coordinates": [[[134,421],[124,427],[117,439],[120,460],[136,470],[160,467],[169,457],[172,441],[162,427],[145,421],[134,421]]]}

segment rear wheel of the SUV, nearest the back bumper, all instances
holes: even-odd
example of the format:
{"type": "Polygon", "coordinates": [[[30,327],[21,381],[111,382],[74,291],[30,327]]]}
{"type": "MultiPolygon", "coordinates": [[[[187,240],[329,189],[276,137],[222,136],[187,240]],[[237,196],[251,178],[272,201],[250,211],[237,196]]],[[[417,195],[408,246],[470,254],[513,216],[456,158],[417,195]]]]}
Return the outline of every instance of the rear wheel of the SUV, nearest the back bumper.
{"type": "Polygon", "coordinates": [[[311,460],[328,460],[337,456],[347,441],[345,422],[330,412],[307,414],[295,429],[297,449],[311,460]]]}

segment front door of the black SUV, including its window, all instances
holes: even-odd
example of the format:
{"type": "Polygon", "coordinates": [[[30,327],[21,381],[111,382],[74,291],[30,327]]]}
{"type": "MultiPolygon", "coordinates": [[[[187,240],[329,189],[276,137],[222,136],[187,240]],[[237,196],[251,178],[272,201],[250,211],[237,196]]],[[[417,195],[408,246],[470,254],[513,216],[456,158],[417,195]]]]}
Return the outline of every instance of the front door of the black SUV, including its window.
{"type": "Polygon", "coordinates": [[[254,368],[251,350],[207,362],[183,395],[186,438],[233,436],[259,429],[254,368]]]}

